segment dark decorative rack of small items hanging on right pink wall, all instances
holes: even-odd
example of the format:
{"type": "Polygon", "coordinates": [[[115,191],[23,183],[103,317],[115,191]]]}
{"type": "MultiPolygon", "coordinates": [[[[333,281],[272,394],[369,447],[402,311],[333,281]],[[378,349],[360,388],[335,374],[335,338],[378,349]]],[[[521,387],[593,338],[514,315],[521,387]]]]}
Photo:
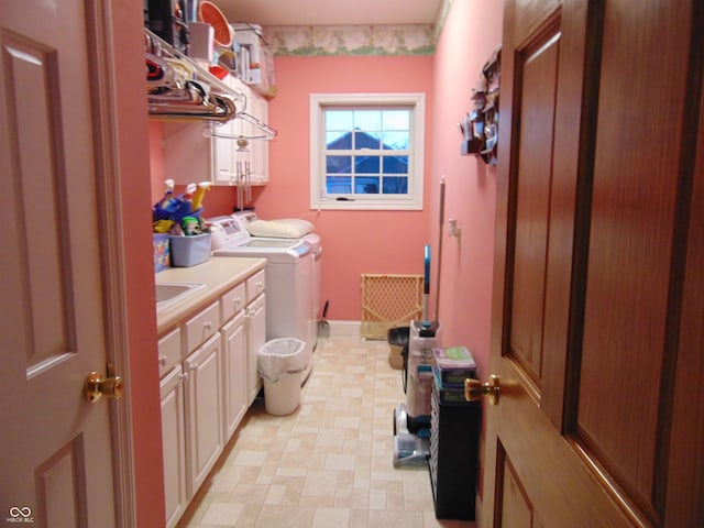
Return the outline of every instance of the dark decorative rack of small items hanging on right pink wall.
{"type": "Polygon", "coordinates": [[[462,154],[479,155],[487,165],[497,161],[499,81],[501,47],[484,64],[480,87],[472,90],[474,110],[460,123],[462,154]]]}

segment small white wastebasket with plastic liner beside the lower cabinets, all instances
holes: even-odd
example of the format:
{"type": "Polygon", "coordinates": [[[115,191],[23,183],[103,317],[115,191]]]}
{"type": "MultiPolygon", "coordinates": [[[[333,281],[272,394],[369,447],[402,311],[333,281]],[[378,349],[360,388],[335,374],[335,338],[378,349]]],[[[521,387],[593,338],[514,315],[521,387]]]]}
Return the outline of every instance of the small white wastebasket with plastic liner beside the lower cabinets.
{"type": "Polygon", "coordinates": [[[300,405],[302,372],[310,361],[300,339],[280,338],[262,345],[257,371],[264,382],[264,407],[275,416],[290,415],[300,405]]]}

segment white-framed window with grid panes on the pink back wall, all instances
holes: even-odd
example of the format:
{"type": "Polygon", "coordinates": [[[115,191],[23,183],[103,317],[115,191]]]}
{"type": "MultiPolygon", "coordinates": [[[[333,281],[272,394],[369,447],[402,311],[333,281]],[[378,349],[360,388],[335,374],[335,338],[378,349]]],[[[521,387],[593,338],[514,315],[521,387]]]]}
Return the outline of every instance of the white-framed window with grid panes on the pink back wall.
{"type": "Polygon", "coordinates": [[[310,96],[310,207],[422,209],[422,94],[310,96]]]}

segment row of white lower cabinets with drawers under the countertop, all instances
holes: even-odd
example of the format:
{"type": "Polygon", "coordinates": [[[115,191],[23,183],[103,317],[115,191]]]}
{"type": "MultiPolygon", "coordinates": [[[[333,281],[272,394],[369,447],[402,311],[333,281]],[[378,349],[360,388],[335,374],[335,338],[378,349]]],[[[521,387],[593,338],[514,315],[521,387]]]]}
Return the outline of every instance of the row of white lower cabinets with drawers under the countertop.
{"type": "Polygon", "coordinates": [[[176,526],[262,387],[265,272],[158,340],[166,526],[176,526]]]}

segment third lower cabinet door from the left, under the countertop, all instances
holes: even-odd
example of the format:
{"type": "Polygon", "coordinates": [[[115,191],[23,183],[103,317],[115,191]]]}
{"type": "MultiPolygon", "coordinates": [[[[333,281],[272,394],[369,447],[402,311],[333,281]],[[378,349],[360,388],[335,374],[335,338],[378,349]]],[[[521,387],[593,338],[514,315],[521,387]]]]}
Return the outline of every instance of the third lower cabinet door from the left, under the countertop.
{"type": "Polygon", "coordinates": [[[246,328],[244,312],[222,328],[223,410],[227,443],[242,421],[249,407],[246,386],[246,328]]]}

